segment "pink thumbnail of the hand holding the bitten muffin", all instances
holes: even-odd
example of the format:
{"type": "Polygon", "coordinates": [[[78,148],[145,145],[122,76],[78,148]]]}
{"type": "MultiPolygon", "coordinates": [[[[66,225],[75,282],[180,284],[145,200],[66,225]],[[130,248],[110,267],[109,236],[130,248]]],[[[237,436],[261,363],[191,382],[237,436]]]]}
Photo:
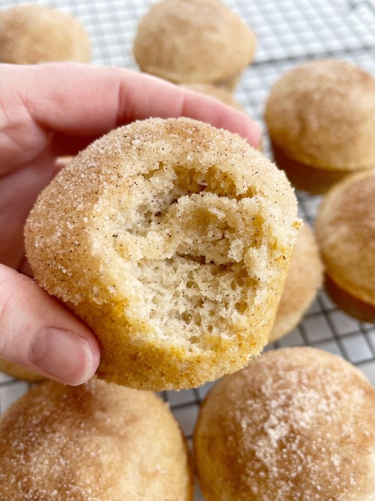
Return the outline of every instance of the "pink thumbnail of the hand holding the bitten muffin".
{"type": "Polygon", "coordinates": [[[45,327],[36,333],[29,351],[30,362],[52,379],[78,385],[92,375],[92,352],[77,334],[45,327]]]}

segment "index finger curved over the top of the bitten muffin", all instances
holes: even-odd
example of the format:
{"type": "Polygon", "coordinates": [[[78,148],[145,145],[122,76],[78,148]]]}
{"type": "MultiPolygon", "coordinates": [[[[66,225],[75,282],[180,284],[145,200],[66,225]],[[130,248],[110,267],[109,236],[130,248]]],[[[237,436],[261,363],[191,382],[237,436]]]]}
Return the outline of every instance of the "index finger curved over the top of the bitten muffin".
{"type": "Polygon", "coordinates": [[[259,127],[243,113],[149,75],[68,63],[20,71],[31,117],[62,134],[99,136],[137,119],[185,116],[235,132],[253,146],[260,140],[259,127]]]}

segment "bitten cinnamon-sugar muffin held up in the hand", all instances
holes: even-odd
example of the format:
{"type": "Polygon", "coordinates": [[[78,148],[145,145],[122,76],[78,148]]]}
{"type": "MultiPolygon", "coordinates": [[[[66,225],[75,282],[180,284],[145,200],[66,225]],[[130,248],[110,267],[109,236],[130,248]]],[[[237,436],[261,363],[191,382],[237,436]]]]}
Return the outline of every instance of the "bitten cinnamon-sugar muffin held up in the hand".
{"type": "Polygon", "coordinates": [[[101,347],[98,375],[198,386],[268,339],[297,235],[283,172],[187,118],[111,131],[39,195],[25,226],[38,283],[101,347]]]}

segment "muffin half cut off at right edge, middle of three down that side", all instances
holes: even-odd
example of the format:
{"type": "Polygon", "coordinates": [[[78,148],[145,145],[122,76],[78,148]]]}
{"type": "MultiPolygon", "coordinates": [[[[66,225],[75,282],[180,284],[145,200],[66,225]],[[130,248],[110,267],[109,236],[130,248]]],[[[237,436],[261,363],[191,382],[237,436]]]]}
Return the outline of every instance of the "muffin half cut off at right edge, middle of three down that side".
{"type": "Polygon", "coordinates": [[[349,315],[375,322],[375,169],[326,193],[315,231],[328,294],[349,315]]]}

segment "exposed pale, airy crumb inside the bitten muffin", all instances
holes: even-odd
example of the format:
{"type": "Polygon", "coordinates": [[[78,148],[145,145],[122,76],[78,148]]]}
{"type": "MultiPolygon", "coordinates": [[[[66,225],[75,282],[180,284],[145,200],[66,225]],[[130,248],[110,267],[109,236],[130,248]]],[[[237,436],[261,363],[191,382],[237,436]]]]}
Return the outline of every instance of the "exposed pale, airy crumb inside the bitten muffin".
{"type": "Polygon", "coordinates": [[[190,349],[207,349],[210,335],[232,336],[259,284],[249,270],[264,252],[255,190],[236,195],[224,172],[191,162],[159,162],[109,189],[95,211],[102,219],[95,228],[105,231],[94,238],[111,241],[125,267],[137,298],[126,302],[125,314],[143,317],[157,336],[178,336],[190,349]],[[103,220],[108,201],[111,217],[103,220]]]}

